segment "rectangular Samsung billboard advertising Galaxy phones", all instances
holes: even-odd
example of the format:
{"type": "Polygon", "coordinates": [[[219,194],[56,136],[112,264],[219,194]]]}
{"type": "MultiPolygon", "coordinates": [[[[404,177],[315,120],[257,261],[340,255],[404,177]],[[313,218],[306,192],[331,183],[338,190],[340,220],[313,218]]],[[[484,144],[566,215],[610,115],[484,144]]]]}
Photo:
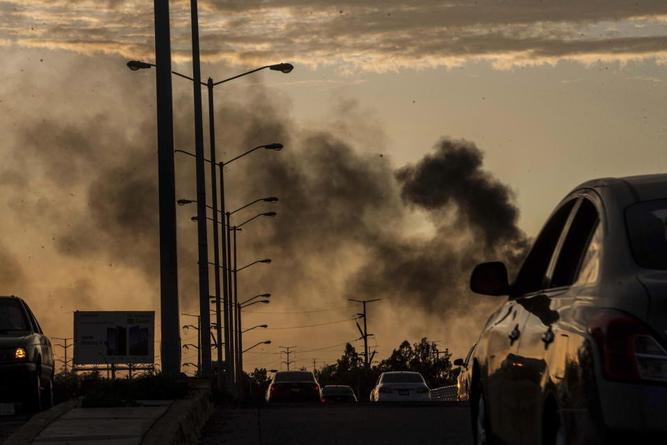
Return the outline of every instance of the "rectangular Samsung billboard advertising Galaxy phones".
{"type": "Polygon", "coordinates": [[[154,362],[154,311],[74,312],[74,364],[154,362]]]}

